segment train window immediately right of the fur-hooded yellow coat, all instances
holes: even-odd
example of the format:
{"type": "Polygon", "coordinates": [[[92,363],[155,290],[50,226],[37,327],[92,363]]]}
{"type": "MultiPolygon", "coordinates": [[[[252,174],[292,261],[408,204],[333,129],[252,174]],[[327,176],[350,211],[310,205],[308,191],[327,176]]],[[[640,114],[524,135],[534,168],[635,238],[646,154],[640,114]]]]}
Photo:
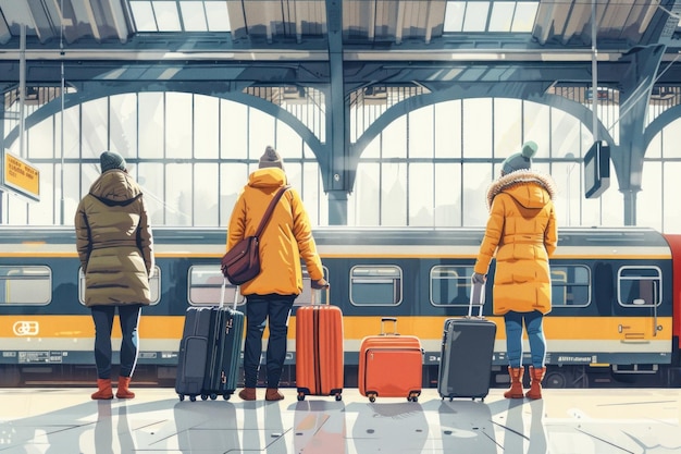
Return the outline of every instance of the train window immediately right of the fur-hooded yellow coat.
{"type": "Polygon", "coordinates": [[[550,266],[552,306],[584,307],[591,303],[590,270],[584,266],[550,266]]]}

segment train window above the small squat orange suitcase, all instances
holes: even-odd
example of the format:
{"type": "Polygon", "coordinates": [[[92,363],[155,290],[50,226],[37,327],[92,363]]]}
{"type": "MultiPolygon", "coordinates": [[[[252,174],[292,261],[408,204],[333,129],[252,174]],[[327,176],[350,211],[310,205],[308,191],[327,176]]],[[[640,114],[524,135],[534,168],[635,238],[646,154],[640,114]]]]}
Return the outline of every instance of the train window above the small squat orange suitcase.
{"type": "Polygon", "coordinates": [[[397,306],[403,299],[401,269],[364,265],[350,270],[350,303],[356,306],[397,306]]]}

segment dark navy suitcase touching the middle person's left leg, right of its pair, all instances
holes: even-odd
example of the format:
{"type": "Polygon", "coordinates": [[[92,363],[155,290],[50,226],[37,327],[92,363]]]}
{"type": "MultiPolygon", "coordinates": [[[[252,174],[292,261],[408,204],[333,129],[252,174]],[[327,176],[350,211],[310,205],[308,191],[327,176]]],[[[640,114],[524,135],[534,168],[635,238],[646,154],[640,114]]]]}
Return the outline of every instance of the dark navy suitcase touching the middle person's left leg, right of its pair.
{"type": "Polygon", "coordinates": [[[234,289],[234,307],[224,305],[226,278],[222,283],[220,306],[211,308],[211,338],[201,398],[211,400],[222,395],[228,400],[236,390],[242,341],[244,338],[244,312],[236,310],[238,297],[234,289]]]}

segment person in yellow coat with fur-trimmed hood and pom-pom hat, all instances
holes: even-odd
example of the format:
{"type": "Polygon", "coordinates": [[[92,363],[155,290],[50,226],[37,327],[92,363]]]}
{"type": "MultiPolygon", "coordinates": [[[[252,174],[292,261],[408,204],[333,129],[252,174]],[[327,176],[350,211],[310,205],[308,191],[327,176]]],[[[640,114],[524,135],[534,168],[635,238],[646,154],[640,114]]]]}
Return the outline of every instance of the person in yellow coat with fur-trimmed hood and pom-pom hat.
{"type": "Polygon", "coordinates": [[[473,283],[484,282],[496,256],[494,314],[506,326],[510,389],[507,398],[522,398],[522,327],[530,341],[532,365],[529,398],[541,398],[546,373],[546,340],[542,326],[550,306],[548,259],[556,250],[558,229],[549,175],[531,170],[537,145],[528,142],[522,151],[508,157],[502,175],[487,189],[490,219],[475,261],[473,283]]]}

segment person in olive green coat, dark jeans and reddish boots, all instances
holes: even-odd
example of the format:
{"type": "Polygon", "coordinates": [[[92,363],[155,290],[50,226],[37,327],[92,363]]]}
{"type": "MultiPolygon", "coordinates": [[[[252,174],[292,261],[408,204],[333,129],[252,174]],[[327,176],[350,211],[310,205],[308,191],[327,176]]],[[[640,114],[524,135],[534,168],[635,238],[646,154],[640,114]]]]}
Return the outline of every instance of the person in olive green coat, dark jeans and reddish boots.
{"type": "Polygon", "coordinates": [[[113,398],[111,330],[116,308],[123,334],[116,397],[133,398],[128,386],[137,363],[141,307],[150,303],[153,238],[141,189],[123,157],[104,151],[100,164],[101,175],[81,200],[74,220],[85,305],[95,321],[98,391],[92,398],[113,398]]]}

